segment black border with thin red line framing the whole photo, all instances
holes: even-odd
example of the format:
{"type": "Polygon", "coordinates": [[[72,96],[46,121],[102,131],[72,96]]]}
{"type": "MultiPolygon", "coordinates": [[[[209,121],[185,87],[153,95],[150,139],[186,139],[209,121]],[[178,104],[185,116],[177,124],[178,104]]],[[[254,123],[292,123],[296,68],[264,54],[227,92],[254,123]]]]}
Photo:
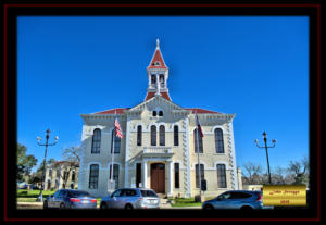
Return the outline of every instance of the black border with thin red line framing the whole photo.
{"type": "MultiPolygon", "coordinates": [[[[321,4],[63,4],[7,3],[3,12],[3,220],[5,222],[319,222],[321,221],[321,4]],[[310,189],[306,208],[235,210],[17,210],[16,18],[24,15],[303,15],[310,20],[310,189]]],[[[291,85],[291,84],[289,84],[291,85]]],[[[43,95],[43,93],[41,93],[43,95]]],[[[300,123],[300,122],[298,122],[300,123]]]]}

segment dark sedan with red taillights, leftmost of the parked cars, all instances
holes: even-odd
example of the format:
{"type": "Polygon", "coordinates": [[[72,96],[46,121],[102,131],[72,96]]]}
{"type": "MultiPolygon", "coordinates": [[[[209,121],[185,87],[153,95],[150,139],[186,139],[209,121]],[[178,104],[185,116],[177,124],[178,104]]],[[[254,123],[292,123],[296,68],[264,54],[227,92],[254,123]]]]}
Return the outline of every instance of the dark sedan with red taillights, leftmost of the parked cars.
{"type": "Polygon", "coordinates": [[[85,190],[60,189],[43,202],[43,209],[96,209],[97,199],[85,190]]]}

